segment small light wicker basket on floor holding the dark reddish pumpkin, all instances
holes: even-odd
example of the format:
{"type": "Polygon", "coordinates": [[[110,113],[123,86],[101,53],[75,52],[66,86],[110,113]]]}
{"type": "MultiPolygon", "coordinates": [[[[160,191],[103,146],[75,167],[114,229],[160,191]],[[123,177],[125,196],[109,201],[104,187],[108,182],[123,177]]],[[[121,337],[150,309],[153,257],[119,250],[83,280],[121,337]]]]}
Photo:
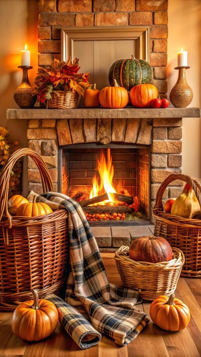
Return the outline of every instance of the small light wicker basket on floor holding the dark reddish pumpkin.
{"type": "Polygon", "coordinates": [[[170,296],[176,289],[184,264],[182,251],[177,248],[172,248],[172,251],[172,260],[154,264],[130,259],[129,247],[117,249],[114,259],[124,286],[139,290],[145,300],[154,300],[159,295],[170,296]]]}

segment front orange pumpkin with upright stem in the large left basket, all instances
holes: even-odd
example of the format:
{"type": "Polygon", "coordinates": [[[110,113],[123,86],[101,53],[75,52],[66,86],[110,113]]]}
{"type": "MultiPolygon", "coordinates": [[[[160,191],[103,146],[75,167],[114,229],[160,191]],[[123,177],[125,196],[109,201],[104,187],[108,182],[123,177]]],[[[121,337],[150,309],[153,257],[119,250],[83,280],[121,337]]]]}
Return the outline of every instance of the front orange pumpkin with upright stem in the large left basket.
{"type": "Polygon", "coordinates": [[[37,202],[36,196],[33,198],[33,202],[23,203],[17,210],[16,216],[21,217],[36,217],[47,215],[52,213],[52,209],[46,203],[37,202]]]}

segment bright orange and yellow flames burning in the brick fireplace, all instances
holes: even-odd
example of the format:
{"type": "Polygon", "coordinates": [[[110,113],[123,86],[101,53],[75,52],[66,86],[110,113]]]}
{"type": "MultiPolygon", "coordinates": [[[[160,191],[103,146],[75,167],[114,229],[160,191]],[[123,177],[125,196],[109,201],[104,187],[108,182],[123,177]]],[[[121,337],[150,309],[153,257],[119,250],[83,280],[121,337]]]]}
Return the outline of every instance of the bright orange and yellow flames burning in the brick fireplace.
{"type": "Polygon", "coordinates": [[[112,157],[110,155],[110,149],[107,149],[107,161],[103,152],[101,152],[100,160],[97,160],[97,170],[100,175],[100,185],[96,175],[93,178],[93,188],[90,193],[90,198],[101,195],[102,189],[104,187],[105,192],[107,192],[109,200],[101,202],[104,205],[107,202],[114,202],[114,198],[111,193],[116,193],[116,190],[112,184],[112,179],[114,176],[114,165],[112,165],[112,157]]]}

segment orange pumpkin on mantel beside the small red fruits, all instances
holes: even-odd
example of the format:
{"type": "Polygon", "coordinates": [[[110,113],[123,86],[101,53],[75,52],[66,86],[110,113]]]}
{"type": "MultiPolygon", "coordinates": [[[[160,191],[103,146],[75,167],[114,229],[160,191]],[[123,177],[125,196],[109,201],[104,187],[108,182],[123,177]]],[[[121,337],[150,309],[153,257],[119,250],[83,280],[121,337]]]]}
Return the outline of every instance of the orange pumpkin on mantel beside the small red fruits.
{"type": "Polygon", "coordinates": [[[139,84],[130,90],[130,101],[134,107],[150,108],[151,100],[157,98],[159,92],[153,84],[139,84]]]}

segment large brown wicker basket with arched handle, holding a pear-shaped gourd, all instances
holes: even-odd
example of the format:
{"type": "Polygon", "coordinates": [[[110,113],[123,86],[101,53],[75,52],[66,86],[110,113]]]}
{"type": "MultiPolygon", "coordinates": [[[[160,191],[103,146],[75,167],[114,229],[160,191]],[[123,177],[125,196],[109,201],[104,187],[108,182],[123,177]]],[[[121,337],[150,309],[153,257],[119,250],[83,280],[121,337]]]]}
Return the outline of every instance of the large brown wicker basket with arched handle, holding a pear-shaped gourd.
{"type": "Polygon", "coordinates": [[[201,205],[200,182],[192,180],[190,176],[186,175],[169,175],[159,187],[156,195],[153,214],[155,218],[154,234],[166,238],[171,247],[177,247],[184,253],[185,263],[181,276],[201,278],[201,220],[182,218],[163,211],[163,193],[174,180],[189,183],[201,205]]]}

